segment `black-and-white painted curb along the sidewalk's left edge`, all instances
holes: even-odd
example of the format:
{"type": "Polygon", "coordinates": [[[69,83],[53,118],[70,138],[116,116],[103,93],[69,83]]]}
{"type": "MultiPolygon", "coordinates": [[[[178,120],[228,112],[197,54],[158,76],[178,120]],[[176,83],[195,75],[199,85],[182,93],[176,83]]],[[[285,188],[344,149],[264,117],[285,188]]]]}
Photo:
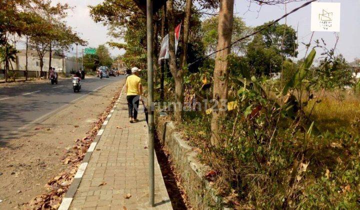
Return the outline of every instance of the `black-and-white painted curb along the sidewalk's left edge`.
{"type": "Polygon", "coordinates": [[[72,199],[76,193],[77,187],[80,184],[81,178],[83,173],[86,170],[87,167],[87,163],[90,160],[91,154],[94,151],[97,142],[100,140],[100,137],[107,125],[108,120],[111,118],[112,116],[112,112],[114,111],[114,109],[116,108],[117,103],[119,102],[121,96],[122,96],[122,90],[124,88],[125,85],[122,86],[121,92],[119,97],[117,98],[115,104],[113,105],[112,109],[110,110],[110,113],[107,115],[106,119],[104,120],[104,122],[102,123],[100,129],[97,131],[97,134],[93,140],[93,142],[90,144],[90,146],[87,148],[87,151],[85,153],[84,158],[81,161],[81,164],[79,165],[79,167],[77,168],[77,171],[75,173],[74,179],[72,180],[69,188],[66,191],[66,194],[64,195],[64,197],[62,198],[61,204],[58,207],[58,210],[67,210],[70,207],[70,204],[72,202],[72,199]]]}

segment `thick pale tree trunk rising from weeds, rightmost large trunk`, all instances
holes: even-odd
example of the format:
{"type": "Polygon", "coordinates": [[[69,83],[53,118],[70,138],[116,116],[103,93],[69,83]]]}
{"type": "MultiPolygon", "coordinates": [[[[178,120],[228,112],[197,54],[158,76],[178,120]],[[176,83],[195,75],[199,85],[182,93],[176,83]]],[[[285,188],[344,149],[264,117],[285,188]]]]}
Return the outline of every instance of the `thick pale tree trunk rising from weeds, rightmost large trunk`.
{"type": "MultiPolygon", "coordinates": [[[[223,49],[231,43],[232,21],[233,21],[233,1],[220,0],[219,20],[217,26],[217,46],[216,50],[223,49]]],[[[213,72],[213,93],[212,98],[218,102],[217,107],[213,108],[211,116],[211,143],[219,144],[219,121],[225,116],[227,100],[227,55],[230,47],[216,52],[215,69],[213,72]]]]}

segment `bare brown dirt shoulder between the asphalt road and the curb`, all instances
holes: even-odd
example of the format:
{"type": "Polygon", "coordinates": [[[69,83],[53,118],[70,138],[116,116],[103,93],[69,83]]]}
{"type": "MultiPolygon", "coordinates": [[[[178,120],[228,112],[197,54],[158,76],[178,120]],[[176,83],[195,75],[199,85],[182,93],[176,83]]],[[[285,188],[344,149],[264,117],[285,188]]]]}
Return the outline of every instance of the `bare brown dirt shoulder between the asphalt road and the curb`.
{"type": "Polygon", "coordinates": [[[0,209],[22,208],[45,193],[47,181],[67,165],[61,159],[109,105],[124,80],[111,83],[29,128],[26,136],[0,147],[0,209]]]}

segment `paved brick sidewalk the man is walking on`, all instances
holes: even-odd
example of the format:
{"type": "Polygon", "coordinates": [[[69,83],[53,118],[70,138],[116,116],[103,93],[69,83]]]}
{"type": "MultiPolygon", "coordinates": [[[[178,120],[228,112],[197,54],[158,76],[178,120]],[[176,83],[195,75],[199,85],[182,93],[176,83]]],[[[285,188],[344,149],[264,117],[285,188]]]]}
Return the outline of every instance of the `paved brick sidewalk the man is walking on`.
{"type": "MultiPolygon", "coordinates": [[[[94,149],[70,209],[148,209],[147,126],[129,123],[124,92],[94,149]],[[117,128],[119,127],[119,128],[117,128]],[[124,195],[130,193],[130,198],[124,195]]],[[[155,155],[155,207],[172,209],[155,155]]]]}

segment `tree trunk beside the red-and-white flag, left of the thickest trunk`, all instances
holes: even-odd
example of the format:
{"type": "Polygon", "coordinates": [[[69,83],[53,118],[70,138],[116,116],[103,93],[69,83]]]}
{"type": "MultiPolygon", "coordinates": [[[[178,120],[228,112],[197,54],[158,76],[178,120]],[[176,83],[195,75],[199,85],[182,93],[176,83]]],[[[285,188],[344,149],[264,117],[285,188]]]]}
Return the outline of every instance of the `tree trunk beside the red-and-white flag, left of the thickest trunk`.
{"type": "Polygon", "coordinates": [[[176,55],[175,55],[175,34],[174,34],[174,18],[173,18],[173,1],[167,1],[167,19],[168,19],[168,34],[169,34],[169,68],[172,76],[175,80],[175,105],[174,105],[174,116],[176,121],[182,119],[182,104],[183,104],[183,70],[177,69],[176,66],[176,55]]]}

